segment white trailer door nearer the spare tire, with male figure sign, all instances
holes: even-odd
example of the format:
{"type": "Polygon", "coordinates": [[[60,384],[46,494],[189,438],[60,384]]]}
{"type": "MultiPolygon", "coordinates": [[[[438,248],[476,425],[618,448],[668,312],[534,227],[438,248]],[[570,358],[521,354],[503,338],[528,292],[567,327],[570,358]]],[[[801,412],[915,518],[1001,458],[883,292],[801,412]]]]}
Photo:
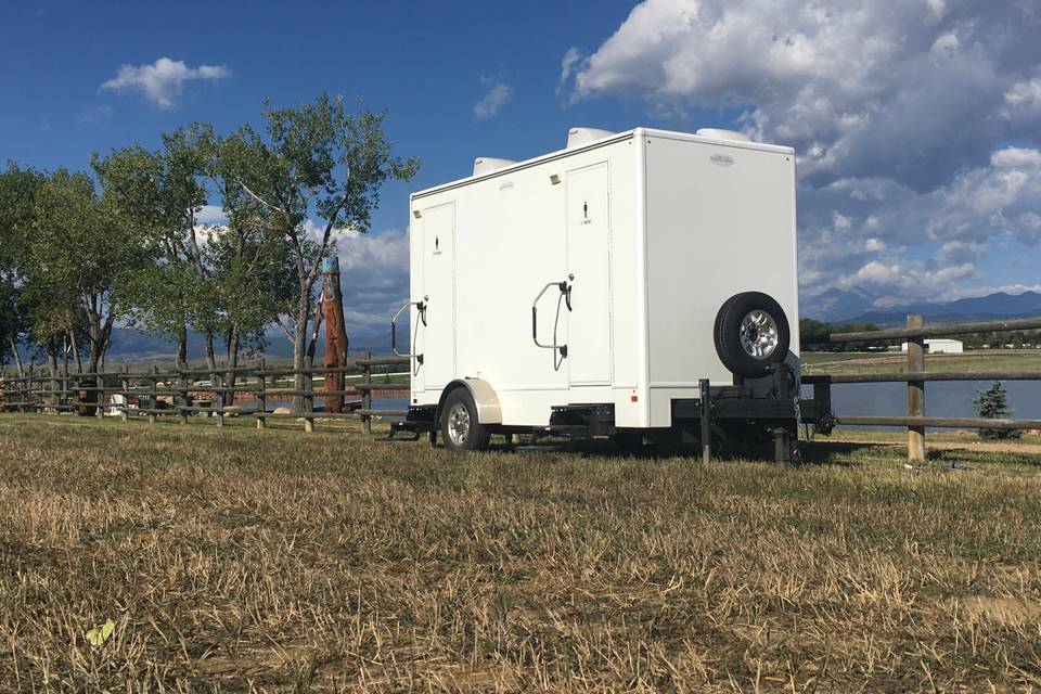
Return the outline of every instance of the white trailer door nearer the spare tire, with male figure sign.
{"type": "Polygon", "coordinates": [[[567,368],[571,385],[611,383],[611,218],[607,163],[567,171],[567,368]]]}

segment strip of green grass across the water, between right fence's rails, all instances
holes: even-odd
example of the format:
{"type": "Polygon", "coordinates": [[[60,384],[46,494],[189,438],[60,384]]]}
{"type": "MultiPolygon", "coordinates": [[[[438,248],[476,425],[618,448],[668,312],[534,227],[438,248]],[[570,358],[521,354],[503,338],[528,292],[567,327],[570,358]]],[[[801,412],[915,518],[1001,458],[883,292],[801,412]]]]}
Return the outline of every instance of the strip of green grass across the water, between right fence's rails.
{"type": "MultiPolygon", "coordinates": [[[[823,352],[800,355],[804,374],[897,373],[908,370],[900,352],[823,352]]],[[[1041,371],[1041,350],[974,349],[963,355],[926,355],[926,371],[1041,371]]]]}

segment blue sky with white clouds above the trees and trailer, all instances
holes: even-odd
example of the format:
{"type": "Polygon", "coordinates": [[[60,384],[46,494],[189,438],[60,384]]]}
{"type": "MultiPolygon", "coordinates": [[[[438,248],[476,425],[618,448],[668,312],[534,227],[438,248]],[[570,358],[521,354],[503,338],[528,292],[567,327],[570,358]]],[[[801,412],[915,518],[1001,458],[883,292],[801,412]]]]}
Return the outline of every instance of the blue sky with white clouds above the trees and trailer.
{"type": "Polygon", "coordinates": [[[570,126],[729,126],[799,153],[807,297],[1016,292],[1041,261],[1039,35],[1036,0],[5,3],[0,159],[86,168],[193,120],[256,121],[265,98],[361,95],[423,162],[342,245],[364,326],[403,296],[410,190],[570,126]],[[134,70],[160,59],[182,64],[149,92],[134,70]]]}

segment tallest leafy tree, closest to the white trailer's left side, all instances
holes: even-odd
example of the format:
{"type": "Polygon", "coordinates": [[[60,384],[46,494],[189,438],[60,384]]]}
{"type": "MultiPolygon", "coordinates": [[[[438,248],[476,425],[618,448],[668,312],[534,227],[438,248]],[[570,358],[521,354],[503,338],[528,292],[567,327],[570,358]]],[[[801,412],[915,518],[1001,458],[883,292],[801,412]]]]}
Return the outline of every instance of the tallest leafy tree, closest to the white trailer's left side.
{"type": "MultiPolygon", "coordinates": [[[[262,134],[249,127],[237,133],[242,147],[229,159],[229,177],[271,213],[270,231],[283,235],[292,252],[294,305],[279,325],[293,343],[295,369],[306,364],[308,325],[317,320],[313,288],[322,258],[334,249],[334,233],[368,231],[382,184],[408,180],[419,167],[417,159],[391,156],[385,115],[348,114],[340,100],[322,94],[299,108],[267,107],[262,134]],[[320,223],[309,233],[312,218],[320,223]]],[[[296,388],[304,385],[298,374],[296,388]]],[[[297,397],[296,407],[301,403],[297,397]]]]}

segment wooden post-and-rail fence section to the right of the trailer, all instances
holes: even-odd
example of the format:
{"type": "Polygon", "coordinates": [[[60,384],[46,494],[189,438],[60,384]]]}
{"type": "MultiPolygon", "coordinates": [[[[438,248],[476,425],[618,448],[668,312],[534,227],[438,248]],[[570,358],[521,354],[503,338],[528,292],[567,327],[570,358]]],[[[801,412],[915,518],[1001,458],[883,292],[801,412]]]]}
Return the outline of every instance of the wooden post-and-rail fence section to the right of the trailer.
{"type": "Polygon", "coordinates": [[[1041,329],[1041,318],[925,325],[921,316],[911,314],[908,316],[907,327],[860,333],[835,333],[828,336],[831,343],[904,339],[908,343],[907,371],[885,374],[804,375],[802,383],[813,386],[814,398],[827,398],[828,401],[831,401],[832,384],[907,383],[908,411],[905,415],[860,416],[837,413],[835,422],[854,426],[905,426],[908,427],[908,460],[924,461],[925,428],[927,426],[938,428],[1041,429],[1041,420],[925,416],[925,384],[928,381],[1041,381],[1041,371],[926,371],[925,338],[1038,329],[1041,329]]]}

